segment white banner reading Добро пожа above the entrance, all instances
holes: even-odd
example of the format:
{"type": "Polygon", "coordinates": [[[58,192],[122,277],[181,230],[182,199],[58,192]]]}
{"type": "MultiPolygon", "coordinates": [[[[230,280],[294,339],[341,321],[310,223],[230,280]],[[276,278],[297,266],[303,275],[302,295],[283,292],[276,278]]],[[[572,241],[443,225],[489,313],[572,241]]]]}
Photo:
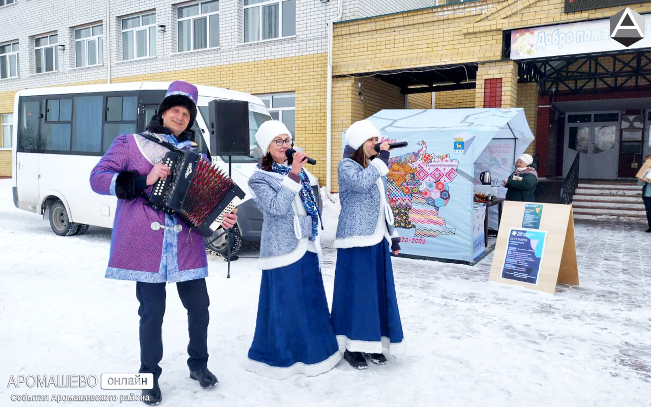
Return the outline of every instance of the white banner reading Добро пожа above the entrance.
{"type": "Polygon", "coordinates": [[[511,32],[511,59],[558,57],[635,48],[651,48],[651,14],[643,14],[644,38],[626,47],[611,38],[610,19],[581,21],[511,32]]]}

